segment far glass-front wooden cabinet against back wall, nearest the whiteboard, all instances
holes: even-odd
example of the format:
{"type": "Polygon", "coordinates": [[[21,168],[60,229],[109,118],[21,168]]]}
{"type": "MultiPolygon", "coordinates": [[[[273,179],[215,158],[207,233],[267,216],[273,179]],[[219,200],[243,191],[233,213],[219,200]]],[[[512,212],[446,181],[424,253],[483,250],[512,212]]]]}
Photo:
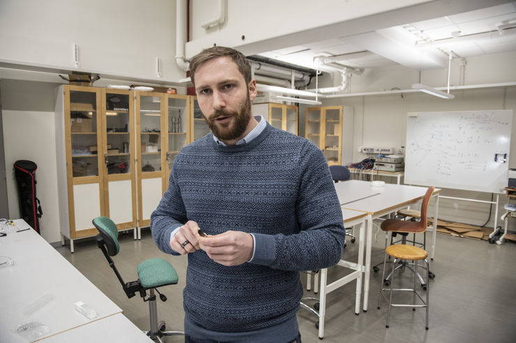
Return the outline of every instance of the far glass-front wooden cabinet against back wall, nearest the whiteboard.
{"type": "Polygon", "coordinates": [[[342,161],[342,106],[308,107],[305,138],[317,145],[329,165],[342,161]]]}

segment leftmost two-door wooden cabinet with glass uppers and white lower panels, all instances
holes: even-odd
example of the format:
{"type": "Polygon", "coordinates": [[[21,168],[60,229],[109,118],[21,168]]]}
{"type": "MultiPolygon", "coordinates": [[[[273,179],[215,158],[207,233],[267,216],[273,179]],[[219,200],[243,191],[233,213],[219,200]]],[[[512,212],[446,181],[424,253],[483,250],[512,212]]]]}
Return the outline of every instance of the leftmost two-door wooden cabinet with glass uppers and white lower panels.
{"type": "Polygon", "coordinates": [[[97,87],[58,88],[59,223],[63,244],[70,239],[72,251],[73,239],[97,234],[91,223],[97,216],[112,218],[119,230],[136,227],[131,94],[97,87]]]}

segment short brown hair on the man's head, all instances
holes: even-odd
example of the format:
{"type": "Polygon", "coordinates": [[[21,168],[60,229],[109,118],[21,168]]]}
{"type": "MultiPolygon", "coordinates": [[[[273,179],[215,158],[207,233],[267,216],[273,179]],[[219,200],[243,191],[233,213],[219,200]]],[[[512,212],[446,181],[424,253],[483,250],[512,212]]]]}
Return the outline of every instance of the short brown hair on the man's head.
{"type": "Polygon", "coordinates": [[[203,65],[204,63],[213,60],[213,58],[219,57],[229,57],[232,59],[234,63],[236,63],[238,67],[238,71],[241,72],[243,78],[245,79],[245,83],[250,83],[251,81],[251,66],[249,65],[248,60],[245,56],[240,52],[232,49],[230,47],[210,47],[208,49],[204,49],[199,52],[199,54],[192,57],[190,61],[190,79],[192,79],[192,83],[195,87],[195,71],[198,67],[203,65]]]}

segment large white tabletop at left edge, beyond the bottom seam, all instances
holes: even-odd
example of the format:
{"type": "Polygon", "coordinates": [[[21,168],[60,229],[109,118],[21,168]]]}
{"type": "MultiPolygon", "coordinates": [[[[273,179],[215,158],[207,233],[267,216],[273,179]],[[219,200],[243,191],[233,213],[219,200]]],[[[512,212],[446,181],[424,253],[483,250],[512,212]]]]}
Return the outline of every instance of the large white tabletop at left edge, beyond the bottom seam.
{"type": "Polygon", "coordinates": [[[16,232],[24,227],[29,225],[17,220],[7,236],[0,237],[0,255],[14,261],[13,266],[0,268],[0,342],[34,342],[121,313],[34,230],[16,232]],[[77,312],[77,301],[96,310],[97,317],[89,319],[77,312]],[[43,324],[48,332],[32,339],[13,332],[29,322],[43,324]]]}

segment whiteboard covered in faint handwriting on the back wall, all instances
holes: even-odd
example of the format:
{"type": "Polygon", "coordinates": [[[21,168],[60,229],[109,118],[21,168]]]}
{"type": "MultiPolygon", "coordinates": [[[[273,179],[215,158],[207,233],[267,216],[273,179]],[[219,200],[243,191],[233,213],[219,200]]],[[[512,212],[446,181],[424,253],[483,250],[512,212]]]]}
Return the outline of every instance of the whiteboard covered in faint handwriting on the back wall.
{"type": "Polygon", "coordinates": [[[512,121],[512,110],[409,113],[404,183],[503,193],[512,121]]]}

